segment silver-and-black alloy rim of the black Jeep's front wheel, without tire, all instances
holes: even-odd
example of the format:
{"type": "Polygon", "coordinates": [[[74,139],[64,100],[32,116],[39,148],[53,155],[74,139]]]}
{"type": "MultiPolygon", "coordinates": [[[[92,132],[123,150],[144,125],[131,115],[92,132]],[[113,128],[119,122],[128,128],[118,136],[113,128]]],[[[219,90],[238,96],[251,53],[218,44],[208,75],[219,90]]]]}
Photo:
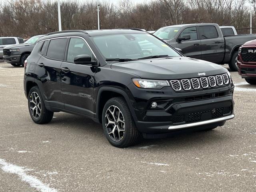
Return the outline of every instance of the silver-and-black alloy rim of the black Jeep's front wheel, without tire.
{"type": "Polygon", "coordinates": [[[125,132],[125,122],[122,111],[117,106],[110,106],[105,114],[105,126],[108,136],[118,142],[122,140],[125,132]]]}

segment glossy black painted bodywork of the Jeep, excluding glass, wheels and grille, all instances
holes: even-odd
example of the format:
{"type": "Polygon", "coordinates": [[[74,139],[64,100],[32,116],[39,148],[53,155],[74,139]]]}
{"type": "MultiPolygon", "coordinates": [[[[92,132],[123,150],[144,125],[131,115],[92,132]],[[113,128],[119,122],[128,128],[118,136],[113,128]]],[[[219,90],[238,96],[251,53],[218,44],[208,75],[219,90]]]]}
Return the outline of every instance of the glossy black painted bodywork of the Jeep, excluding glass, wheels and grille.
{"type": "MultiPolygon", "coordinates": [[[[152,58],[131,62],[106,63],[90,36],[119,33],[145,33],[135,30],[105,30],[88,32],[65,32],[50,34],[41,40],[61,37],[84,38],[97,57],[99,66],[85,66],[68,63],[64,60],[50,60],[44,53],[36,48],[28,57],[25,68],[24,90],[28,96],[29,88],[38,85],[43,96],[46,108],[53,112],[69,112],[85,115],[96,122],[101,122],[101,101],[104,92],[112,92],[123,96],[129,106],[134,121],[142,133],[172,132],[168,126],[172,124],[172,116],[180,110],[196,108],[204,110],[213,103],[218,106],[232,106],[232,82],[228,86],[209,90],[188,92],[174,92],[170,87],[160,90],[137,88],[132,83],[132,78],[148,78],[158,80],[171,80],[180,78],[197,77],[198,72],[206,72],[207,76],[226,73],[227,70],[216,64],[202,60],[186,58],[180,54],[175,58],[152,58]],[[44,66],[38,64],[43,63],[44,66]],[[30,67],[31,65],[35,67],[30,67]],[[62,68],[68,68],[65,72],[62,68]],[[201,99],[186,102],[186,98],[225,92],[222,97],[201,99]],[[150,110],[152,101],[168,102],[164,110],[150,110]],[[179,105],[179,106],[178,106],[179,105]]],[[[223,122],[216,125],[223,124],[223,122]]]]}

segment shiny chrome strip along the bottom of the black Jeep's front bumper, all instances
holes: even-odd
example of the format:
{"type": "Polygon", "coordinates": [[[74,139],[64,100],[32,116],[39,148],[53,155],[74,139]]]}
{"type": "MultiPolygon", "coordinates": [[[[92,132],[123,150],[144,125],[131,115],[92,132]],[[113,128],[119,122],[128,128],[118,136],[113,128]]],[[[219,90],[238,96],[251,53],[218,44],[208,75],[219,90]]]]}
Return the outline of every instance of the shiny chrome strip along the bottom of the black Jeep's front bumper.
{"type": "Polygon", "coordinates": [[[205,125],[205,124],[209,124],[209,123],[226,121],[226,120],[232,119],[234,117],[235,117],[235,115],[232,114],[232,115],[229,115],[229,116],[224,116],[224,117],[221,117],[221,118],[211,119],[211,120],[206,120],[206,121],[200,121],[200,122],[196,122],[196,123],[188,123],[188,124],[182,124],[182,125],[172,125],[168,129],[172,130],[172,129],[195,127],[195,126],[205,125]]]}

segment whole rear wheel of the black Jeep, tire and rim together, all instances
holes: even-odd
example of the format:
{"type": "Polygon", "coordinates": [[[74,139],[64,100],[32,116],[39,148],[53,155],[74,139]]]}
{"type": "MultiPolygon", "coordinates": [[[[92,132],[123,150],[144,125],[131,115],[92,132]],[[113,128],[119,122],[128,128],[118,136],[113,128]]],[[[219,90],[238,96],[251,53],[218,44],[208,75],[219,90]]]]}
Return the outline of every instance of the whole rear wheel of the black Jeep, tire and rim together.
{"type": "Polygon", "coordinates": [[[32,87],[28,93],[28,110],[32,120],[37,124],[45,124],[52,120],[53,112],[46,109],[38,86],[32,87]]]}

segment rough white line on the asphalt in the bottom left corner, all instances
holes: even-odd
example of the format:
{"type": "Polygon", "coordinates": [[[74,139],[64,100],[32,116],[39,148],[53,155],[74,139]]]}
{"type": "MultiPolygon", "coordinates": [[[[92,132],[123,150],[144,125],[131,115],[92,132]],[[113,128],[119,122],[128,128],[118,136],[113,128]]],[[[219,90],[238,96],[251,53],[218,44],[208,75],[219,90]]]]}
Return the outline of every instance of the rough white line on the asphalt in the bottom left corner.
{"type": "Polygon", "coordinates": [[[26,169],[14,164],[7,163],[5,160],[0,159],[0,166],[4,172],[18,175],[22,181],[27,182],[31,187],[41,192],[57,192],[56,189],[50,188],[47,184],[42,183],[36,177],[26,174],[26,169]]]}

